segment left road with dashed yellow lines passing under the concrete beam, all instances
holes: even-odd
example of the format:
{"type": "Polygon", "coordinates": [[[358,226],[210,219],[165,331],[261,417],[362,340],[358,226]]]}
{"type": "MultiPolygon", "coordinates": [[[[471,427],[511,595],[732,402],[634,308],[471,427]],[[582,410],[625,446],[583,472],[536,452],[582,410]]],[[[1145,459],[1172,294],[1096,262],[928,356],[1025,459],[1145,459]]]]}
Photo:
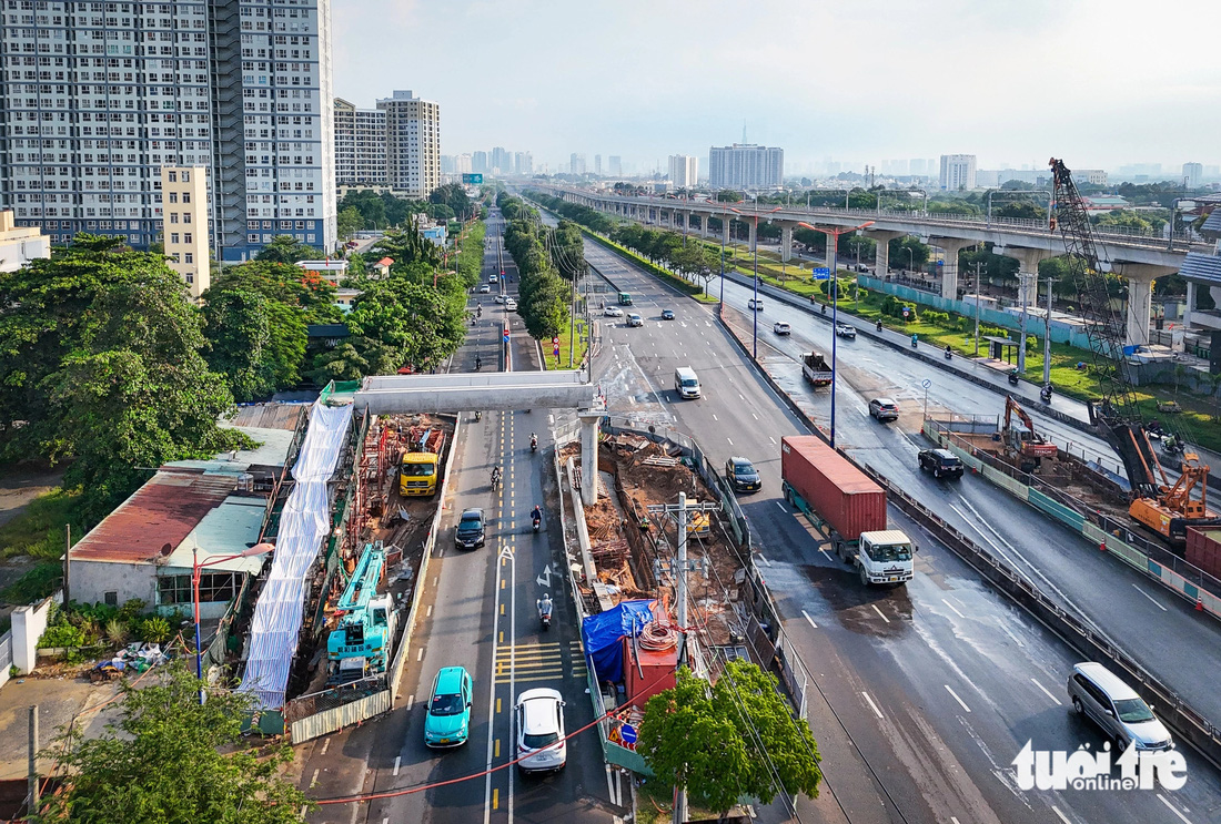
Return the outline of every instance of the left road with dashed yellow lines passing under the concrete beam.
{"type": "MultiPolygon", "coordinates": [[[[484,281],[499,271],[502,220],[488,220],[490,248],[484,281]]],[[[515,275],[504,255],[504,270],[515,275]]],[[[507,292],[515,294],[516,280],[507,292]]],[[[496,369],[499,322],[505,315],[481,299],[484,316],[454,355],[453,371],[470,371],[475,355],[484,369],[496,369]]],[[[512,315],[516,325],[520,323],[512,315]]],[[[514,361],[529,364],[532,343],[514,333],[514,361]]],[[[535,363],[536,363],[535,358],[535,363]]],[[[310,813],[321,822],[607,822],[623,809],[610,806],[612,776],[602,761],[596,730],[571,740],[564,770],[520,776],[507,764],[515,757],[513,703],[524,690],[548,686],[562,692],[569,731],[593,720],[585,693],[585,663],[579,627],[563,573],[563,536],[558,519],[543,519],[535,535],[530,510],[547,513],[558,505],[551,471],[551,433],[545,410],[487,413],[476,422],[462,415],[463,432],[443,502],[446,516],[429,562],[427,592],[421,602],[413,652],[399,685],[398,706],[388,715],[305,746],[302,786],[310,797],[349,793],[396,795],[361,804],[327,806],[310,813]],[[530,433],[538,435],[538,452],[530,452],[530,433]],[[491,469],[501,465],[503,483],[492,492],[491,469]],[[462,510],[481,507],[487,519],[487,543],[473,551],[454,548],[454,525],[462,510]],[[543,631],[536,599],[551,592],[554,623],[543,631]],[[425,708],[432,679],[443,667],[466,668],[474,679],[469,741],[453,750],[424,745],[425,708]],[[493,772],[488,772],[493,770],[493,772]],[[459,780],[459,779],[468,780],[459,780]],[[455,781],[457,780],[457,781],[455,781]],[[443,784],[455,781],[453,784],[443,784]],[[437,786],[440,785],[440,786],[437,786]]],[[[617,792],[618,792],[617,787],[617,792]]],[[[626,796],[626,789],[621,790],[626,796]]]]}

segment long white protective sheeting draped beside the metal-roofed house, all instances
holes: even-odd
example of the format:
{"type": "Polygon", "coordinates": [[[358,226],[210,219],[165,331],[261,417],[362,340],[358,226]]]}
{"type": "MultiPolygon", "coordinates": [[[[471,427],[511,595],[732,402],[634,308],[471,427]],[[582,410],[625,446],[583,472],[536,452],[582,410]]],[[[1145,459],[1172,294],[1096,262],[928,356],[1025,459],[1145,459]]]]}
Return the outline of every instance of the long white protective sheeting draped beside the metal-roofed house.
{"type": "Polygon", "coordinates": [[[331,531],[327,481],[335,474],[352,426],[352,405],[314,404],[300,455],[297,485],[284,503],[271,573],[259,593],[250,624],[250,656],[242,692],[253,692],[258,709],[284,704],[284,690],[305,616],[305,574],[331,531]]]}

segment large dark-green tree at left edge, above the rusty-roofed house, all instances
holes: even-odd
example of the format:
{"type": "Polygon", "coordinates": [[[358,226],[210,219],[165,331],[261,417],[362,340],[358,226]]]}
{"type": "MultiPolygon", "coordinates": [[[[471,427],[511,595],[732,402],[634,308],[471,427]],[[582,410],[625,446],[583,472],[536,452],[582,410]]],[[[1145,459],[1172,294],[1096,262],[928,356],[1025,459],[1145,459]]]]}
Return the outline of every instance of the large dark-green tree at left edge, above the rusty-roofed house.
{"type": "Polygon", "coordinates": [[[233,405],[201,356],[199,310],[158,255],[81,236],[54,259],[0,273],[0,455],[73,459],[65,488],[98,520],[140,468],[238,443],[233,405]]]}

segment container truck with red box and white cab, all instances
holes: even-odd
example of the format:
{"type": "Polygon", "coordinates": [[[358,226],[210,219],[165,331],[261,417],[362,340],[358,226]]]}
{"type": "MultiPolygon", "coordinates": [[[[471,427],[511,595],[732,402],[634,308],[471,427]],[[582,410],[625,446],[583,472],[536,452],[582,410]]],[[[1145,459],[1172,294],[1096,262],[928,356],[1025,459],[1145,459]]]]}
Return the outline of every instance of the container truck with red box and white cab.
{"type": "Polygon", "coordinates": [[[822,438],[780,439],[784,499],[827,536],[836,558],[856,568],[861,584],[912,580],[916,546],[888,529],[886,491],[822,438]]]}

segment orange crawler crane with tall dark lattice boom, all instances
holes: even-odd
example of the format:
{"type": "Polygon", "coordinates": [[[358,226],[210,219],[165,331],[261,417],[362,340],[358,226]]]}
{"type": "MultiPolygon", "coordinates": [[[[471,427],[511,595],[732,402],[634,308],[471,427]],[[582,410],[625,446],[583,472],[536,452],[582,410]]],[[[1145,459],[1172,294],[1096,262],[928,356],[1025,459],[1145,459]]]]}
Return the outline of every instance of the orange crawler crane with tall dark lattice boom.
{"type": "MultiPolygon", "coordinates": [[[[1110,265],[1099,256],[1085,201],[1073,183],[1071,170],[1062,160],[1053,157],[1049,162],[1055,184],[1051,225],[1063,237],[1070,265],[1082,275],[1078,278],[1082,283],[1078,299],[1101,389],[1101,398],[1089,403],[1090,424],[1123,461],[1132,485],[1128,514],[1170,546],[1182,547],[1188,526],[1221,524],[1221,518],[1204,503],[1209,468],[1187,447],[1179,458],[1182,474],[1171,483],[1158,461],[1123,366],[1126,325],[1115,313],[1106,292],[1105,272],[1110,265]],[[1197,487],[1198,498],[1193,496],[1197,487]]],[[[1176,439],[1186,443],[1182,437],[1176,439]]]]}

